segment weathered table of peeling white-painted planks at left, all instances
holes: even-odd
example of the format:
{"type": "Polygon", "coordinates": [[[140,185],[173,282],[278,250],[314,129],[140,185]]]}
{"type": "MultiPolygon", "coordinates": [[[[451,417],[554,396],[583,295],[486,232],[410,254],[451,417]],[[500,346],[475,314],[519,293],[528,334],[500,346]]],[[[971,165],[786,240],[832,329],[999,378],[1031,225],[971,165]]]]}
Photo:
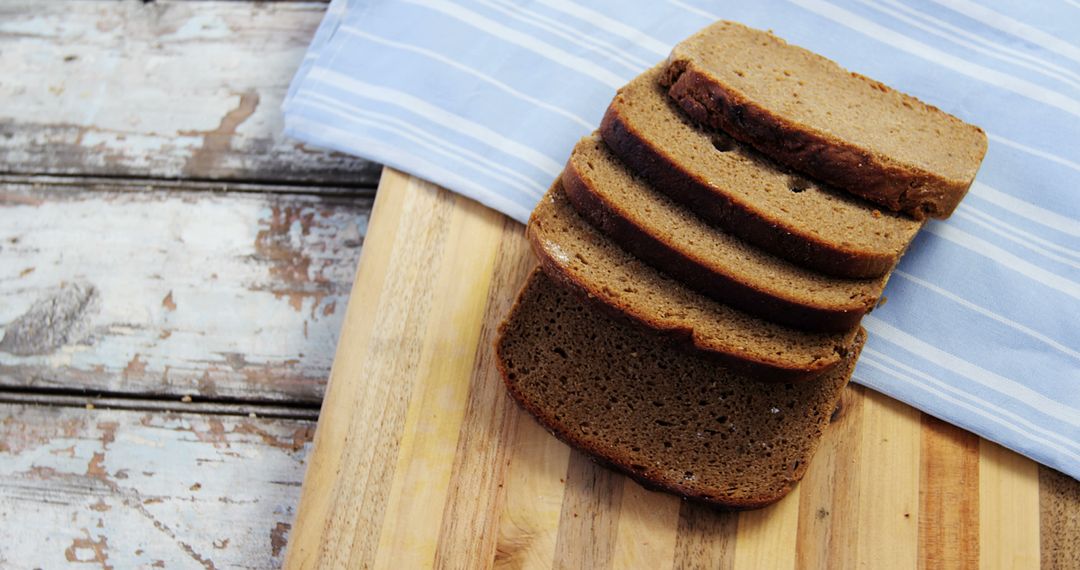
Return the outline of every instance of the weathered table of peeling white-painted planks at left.
{"type": "Polygon", "coordinates": [[[0,568],[281,565],[378,176],[281,132],[324,10],[0,0],[0,568]]]}

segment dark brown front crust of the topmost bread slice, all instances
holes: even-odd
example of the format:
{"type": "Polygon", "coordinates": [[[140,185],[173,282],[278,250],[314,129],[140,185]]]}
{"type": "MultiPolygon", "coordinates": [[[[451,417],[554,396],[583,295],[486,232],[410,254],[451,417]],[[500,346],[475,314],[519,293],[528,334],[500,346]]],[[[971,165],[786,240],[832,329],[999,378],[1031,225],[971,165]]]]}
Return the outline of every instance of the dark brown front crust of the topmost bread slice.
{"type": "MultiPolygon", "coordinates": [[[[890,90],[869,78],[852,76],[875,89],[890,90]]],[[[795,171],[915,219],[947,218],[973,181],[954,180],[910,164],[899,164],[890,157],[805,128],[725,89],[691,60],[670,59],[661,81],[694,121],[719,128],[795,171]]]]}

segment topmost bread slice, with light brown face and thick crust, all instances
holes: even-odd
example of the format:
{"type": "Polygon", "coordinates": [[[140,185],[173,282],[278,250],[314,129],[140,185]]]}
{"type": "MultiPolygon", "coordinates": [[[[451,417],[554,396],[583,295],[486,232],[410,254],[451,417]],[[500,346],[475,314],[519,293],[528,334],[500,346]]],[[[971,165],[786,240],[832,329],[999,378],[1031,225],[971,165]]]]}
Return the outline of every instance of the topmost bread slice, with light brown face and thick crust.
{"type": "Polygon", "coordinates": [[[694,120],[917,219],[948,217],[986,153],[977,126],[732,22],[676,45],[662,80],[694,120]]]}

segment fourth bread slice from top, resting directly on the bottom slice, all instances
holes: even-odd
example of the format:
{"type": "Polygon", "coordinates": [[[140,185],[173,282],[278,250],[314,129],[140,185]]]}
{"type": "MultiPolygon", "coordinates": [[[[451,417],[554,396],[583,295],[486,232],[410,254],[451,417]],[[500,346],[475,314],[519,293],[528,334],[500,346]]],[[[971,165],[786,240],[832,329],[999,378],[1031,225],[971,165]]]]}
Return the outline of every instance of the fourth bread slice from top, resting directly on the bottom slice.
{"type": "Polygon", "coordinates": [[[527,233],[544,272],[583,299],[761,379],[815,378],[840,364],[856,332],[785,327],[686,288],[590,226],[557,180],[532,211],[527,233]]]}

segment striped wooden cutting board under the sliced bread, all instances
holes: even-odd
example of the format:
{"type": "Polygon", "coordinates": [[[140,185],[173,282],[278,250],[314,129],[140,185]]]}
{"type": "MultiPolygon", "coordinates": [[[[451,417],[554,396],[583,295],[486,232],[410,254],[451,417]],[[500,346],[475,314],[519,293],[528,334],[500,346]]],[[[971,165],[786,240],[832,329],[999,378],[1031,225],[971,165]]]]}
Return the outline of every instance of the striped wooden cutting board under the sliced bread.
{"type": "Polygon", "coordinates": [[[861,386],[804,481],[762,511],[710,511],[593,464],[514,406],[492,363],[534,264],[519,223],[384,171],[288,568],[1080,564],[1075,480],[861,386]]]}

